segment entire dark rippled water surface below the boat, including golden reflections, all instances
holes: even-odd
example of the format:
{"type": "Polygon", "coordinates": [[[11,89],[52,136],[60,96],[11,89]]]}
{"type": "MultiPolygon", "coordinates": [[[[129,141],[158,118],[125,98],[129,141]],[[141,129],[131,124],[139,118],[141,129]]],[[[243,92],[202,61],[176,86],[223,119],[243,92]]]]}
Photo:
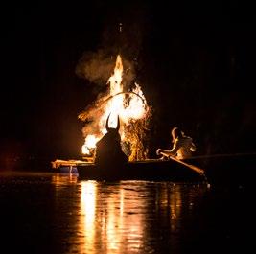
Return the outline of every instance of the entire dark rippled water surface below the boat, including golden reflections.
{"type": "Polygon", "coordinates": [[[0,173],[1,253],[256,253],[252,188],[0,173]]]}

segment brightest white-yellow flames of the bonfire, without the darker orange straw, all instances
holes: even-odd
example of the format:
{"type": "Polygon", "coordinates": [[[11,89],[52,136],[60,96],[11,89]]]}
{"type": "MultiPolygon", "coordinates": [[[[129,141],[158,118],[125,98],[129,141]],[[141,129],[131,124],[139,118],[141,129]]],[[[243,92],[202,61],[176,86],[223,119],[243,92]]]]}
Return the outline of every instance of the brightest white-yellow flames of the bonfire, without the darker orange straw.
{"type": "Polygon", "coordinates": [[[107,81],[109,85],[109,94],[107,96],[108,98],[110,97],[110,100],[106,102],[102,116],[99,118],[98,132],[100,134],[89,134],[85,137],[85,142],[81,149],[84,154],[89,154],[90,149],[95,149],[97,141],[105,134],[105,121],[109,114],[109,127],[116,127],[117,115],[119,115],[122,140],[126,138],[124,125],[128,126],[130,122],[143,119],[147,115],[149,107],[140,85],[135,83],[135,87],[131,92],[125,91],[122,83],[123,72],[122,58],[118,55],[113,75],[107,81]]]}

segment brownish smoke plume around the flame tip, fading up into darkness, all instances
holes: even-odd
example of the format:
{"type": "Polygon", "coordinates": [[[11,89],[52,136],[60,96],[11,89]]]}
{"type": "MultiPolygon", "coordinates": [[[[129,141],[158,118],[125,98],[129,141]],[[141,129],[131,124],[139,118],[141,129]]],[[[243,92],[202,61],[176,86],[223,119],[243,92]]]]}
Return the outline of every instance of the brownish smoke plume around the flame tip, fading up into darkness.
{"type": "Polygon", "coordinates": [[[135,79],[143,40],[148,31],[146,3],[129,2],[120,9],[116,5],[105,15],[105,28],[99,36],[96,52],[86,51],[81,56],[76,74],[93,84],[104,87],[121,55],[124,66],[123,85],[135,79]]]}

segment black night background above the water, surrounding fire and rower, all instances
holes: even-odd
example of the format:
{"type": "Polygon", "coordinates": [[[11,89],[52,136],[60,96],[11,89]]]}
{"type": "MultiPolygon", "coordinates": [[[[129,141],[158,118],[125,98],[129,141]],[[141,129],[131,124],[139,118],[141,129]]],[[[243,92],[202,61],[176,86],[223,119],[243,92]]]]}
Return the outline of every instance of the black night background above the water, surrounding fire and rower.
{"type": "Polygon", "coordinates": [[[78,114],[100,92],[76,74],[84,52],[134,63],[153,108],[151,154],[170,145],[175,126],[202,154],[254,152],[255,14],[242,1],[205,2],[3,8],[1,158],[81,156],[78,114]]]}

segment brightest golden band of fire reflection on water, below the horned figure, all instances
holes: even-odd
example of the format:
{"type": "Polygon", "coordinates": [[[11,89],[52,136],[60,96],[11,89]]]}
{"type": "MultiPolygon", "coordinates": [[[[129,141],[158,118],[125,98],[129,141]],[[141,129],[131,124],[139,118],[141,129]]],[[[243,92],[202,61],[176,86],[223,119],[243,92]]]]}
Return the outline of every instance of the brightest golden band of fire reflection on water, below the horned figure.
{"type": "MultiPolygon", "coordinates": [[[[84,240],[81,252],[98,253],[99,245],[105,253],[120,253],[127,247],[129,251],[138,249],[144,234],[142,210],[145,203],[142,200],[139,203],[127,200],[125,206],[124,199],[130,191],[118,186],[109,193],[102,186],[103,192],[99,193],[98,187],[94,181],[81,183],[79,227],[84,240]]],[[[133,194],[134,197],[139,200],[133,194]]]]}

